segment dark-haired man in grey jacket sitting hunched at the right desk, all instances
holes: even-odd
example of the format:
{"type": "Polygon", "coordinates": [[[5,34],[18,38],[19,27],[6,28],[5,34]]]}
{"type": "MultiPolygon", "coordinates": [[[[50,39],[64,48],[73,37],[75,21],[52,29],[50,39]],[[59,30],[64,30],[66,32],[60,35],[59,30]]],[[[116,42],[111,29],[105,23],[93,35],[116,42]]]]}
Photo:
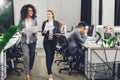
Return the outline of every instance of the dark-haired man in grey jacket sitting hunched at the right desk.
{"type": "Polygon", "coordinates": [[[79,67],[79,64],[84,64],[85,54],[81,49],[81,44],[83,44],[87,36],[85,35],[85,23],[78,23],[78,26],[75,30],[73,30],[68,38],[69,50],[71,54],[75,54],[80,56],[78,61],[76,62],[75,67],[79,67]]]}

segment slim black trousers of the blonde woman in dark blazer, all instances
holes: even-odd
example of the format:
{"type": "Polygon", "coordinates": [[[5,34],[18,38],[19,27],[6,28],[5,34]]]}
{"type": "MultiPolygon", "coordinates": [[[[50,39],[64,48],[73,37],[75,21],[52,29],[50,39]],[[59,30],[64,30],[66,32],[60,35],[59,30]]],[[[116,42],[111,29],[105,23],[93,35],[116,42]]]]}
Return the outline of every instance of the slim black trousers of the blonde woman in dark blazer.
{"type": "Polygon", "coordinates": [[[52,74],[52,64],[54,60],[56,40],[48,40],[44,38],[43,46],[46,54],[46,67],[48,74],[52,74]]]}

